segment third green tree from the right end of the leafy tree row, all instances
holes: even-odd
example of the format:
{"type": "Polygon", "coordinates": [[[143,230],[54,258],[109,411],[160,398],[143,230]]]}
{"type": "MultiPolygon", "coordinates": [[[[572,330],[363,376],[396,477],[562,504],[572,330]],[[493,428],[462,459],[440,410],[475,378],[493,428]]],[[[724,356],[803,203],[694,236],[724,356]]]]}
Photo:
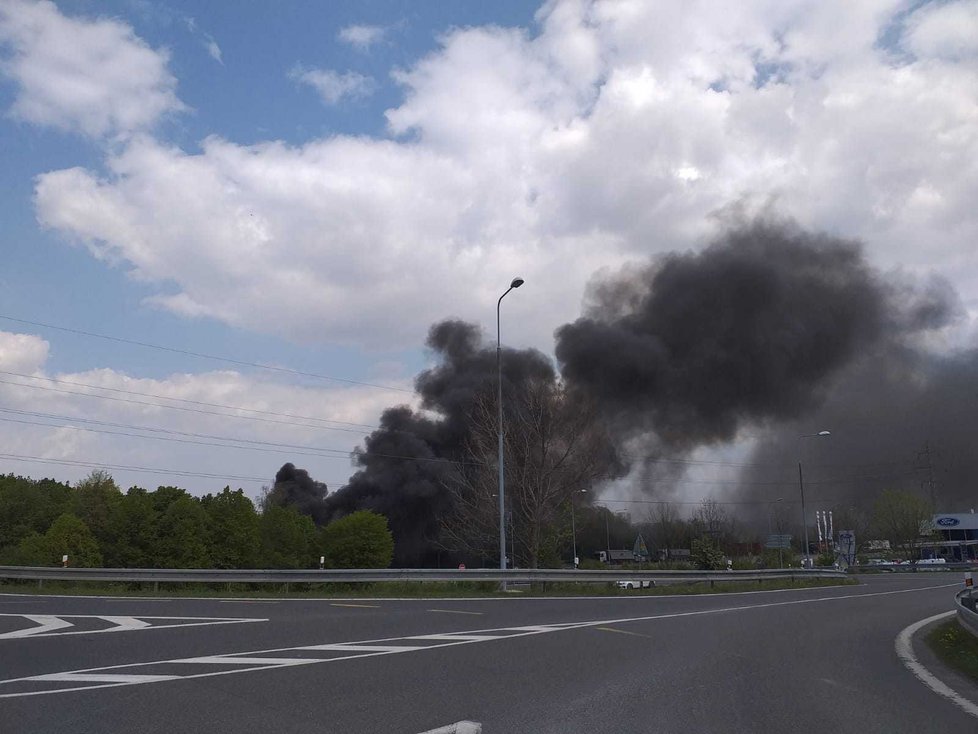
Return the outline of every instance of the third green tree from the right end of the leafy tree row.
{"type": "Polygon", "coordinates": [[[225,487],[201,500],[210,522],[210,556],[214,568],[254,568],[261,546],[258,514],[240,489],[225,487]]]}

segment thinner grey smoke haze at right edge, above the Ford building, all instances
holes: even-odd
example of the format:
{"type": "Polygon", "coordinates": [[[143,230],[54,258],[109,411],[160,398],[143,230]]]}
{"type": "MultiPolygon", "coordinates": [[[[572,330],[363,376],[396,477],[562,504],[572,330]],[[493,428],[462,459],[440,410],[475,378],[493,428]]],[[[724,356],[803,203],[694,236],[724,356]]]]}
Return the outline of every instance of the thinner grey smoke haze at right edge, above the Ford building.
{"type": "Polygon", "coordinates": [[[871,510],[881,490],[903,489],[933,499],[939,511],[967,512],[978,508],[976,435],[978,351],[885,345],[847,369],[817,410],[759,442],[751,463],[788,464],[786,471],[750,468],[737,494],[796,497],[794,462],[803,461],[813,509],[871,510]],[[822,429],[832,435],[799,438],[822,429]],[[784,488],[765,485],[772,479],[784,488]]]}

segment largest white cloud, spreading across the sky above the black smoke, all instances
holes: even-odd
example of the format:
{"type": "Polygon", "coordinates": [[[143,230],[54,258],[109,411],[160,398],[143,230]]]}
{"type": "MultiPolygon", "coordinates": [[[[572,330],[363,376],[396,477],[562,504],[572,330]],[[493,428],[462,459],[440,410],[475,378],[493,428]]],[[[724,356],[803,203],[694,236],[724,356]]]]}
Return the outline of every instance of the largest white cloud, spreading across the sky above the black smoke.
{"type": "Polygon", "coordinates": [[[978,68],[926,43],[895,64],[877,39],[903,5],[846,7],[551,3],[536,36],[454,30],[399,72],[391,139],[137,137],[105,175],[41,176],[38,217],[163,308],[366,348],[491,324],[517,274],[508,338],[547,347],[595,270],[698,246],[736,201],[936,269],[974,309],[978,68]]]}

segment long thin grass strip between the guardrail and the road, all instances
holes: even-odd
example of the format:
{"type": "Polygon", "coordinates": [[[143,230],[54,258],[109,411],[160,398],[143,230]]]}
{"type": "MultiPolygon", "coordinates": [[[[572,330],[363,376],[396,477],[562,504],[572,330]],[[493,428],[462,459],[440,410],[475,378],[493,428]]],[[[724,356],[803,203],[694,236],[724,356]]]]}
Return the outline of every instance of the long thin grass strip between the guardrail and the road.
{"type": "Polygon", "coordinates": [[[276,598],[446,598],[453,597],[513,597],[513,596],[662,596],[669,594],[720,594],[744,591],[773,591],[778,589],[810,589],[822,586],[848,586],[855,579],[771,579],[757,581],[699,582],[695,584],[663,584],[651,589],[619,589],[614,583],[535,583],[511,584],[502,592],[495,581],[426,581],[364,584],[175,584],[175,583],[112,583],[92,581],[0,581],[0,594],[70,594],[79,596],[132,597],[221,597],[227,599],[276,598]]]}

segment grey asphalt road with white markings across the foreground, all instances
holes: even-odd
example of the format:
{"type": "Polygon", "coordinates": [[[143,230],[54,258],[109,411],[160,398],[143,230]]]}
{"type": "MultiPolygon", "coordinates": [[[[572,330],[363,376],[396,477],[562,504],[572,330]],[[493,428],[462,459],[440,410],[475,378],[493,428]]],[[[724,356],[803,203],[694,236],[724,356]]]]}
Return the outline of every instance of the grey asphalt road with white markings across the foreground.
{"type": "Polygon", "coordinates": [[[608,599],[0,595],[0,732],[978,731],[894,651],[951,608],[958,576],[863,581],[608,599]]]}

